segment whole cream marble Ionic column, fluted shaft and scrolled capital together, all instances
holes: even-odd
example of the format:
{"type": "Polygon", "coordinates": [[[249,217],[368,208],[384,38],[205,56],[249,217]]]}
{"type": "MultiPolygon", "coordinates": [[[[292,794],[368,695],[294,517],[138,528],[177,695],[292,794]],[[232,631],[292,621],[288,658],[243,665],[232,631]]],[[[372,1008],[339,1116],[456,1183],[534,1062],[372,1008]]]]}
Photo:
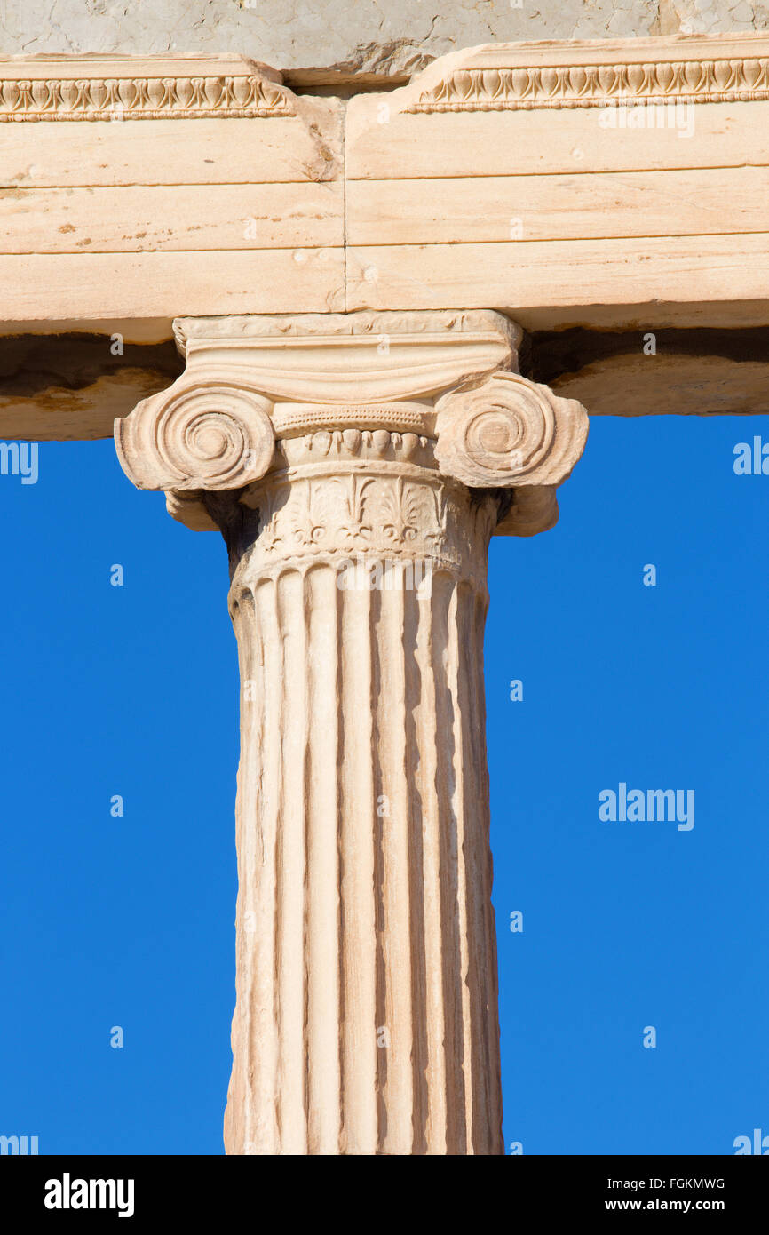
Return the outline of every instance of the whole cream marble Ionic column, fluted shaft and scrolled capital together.
{"type": "Polygon", "coordinates": [[[185,373],[115,437],[130,479],[230,552],[227,1152],[501,1153],[486,551],[553,525],[586,412],[516,372],[495,312],[175,331],[185,373]],[[363,583],[341,587],[351,558],[363,583]]]}

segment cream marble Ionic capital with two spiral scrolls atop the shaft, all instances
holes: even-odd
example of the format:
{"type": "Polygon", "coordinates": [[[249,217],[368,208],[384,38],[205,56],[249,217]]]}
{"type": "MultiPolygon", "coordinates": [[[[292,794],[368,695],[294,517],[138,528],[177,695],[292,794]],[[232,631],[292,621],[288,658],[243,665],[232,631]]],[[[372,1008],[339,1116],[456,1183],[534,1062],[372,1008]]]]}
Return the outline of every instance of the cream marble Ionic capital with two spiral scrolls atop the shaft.
{"type": "Polygon", "coordinates": [[[555,522],[555,488],[583,452],[588,415],[517,372],[521,331],[501,314],[179,319],[174,330],[184,374],[116,421],[115,438],[130,479],[164,490],[188,526],[216,526],[206,494],[249,505],[267,473],[290,473],[296,450],[286,463],[285,443],[311,447],[318,433],[336,435],[341,457],[363,469],[378,447],[362,452],[354,435],[379,433],[381,450],[390,435],[406,452],[425,440],[441,477],[499,490],[497,532],[555,522]]]}

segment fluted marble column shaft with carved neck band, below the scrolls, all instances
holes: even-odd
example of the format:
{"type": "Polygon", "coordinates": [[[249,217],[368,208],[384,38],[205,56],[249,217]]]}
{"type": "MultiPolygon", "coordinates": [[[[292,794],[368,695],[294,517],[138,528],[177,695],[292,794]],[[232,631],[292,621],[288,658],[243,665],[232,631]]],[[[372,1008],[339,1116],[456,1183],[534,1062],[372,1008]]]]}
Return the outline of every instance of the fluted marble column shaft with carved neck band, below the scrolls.
{"type": "Polygon", "coordinates": [[[337,431],[283,443],[249,503],[227,1151],[501,1152],[497,498],[439,477],[425,437],[337,431]]]}

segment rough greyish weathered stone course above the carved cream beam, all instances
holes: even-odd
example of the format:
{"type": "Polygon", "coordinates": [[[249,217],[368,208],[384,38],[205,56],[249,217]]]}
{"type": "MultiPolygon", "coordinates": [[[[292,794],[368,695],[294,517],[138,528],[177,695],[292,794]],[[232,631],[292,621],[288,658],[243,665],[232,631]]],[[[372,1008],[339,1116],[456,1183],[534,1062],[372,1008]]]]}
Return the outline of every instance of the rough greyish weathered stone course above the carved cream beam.
{"type": "Polygon", "coordinates": [[[0,53],[241,52],[280,69],[410,74],[476,43],[769,28],[748,0],[0,0],[0,53]]]}

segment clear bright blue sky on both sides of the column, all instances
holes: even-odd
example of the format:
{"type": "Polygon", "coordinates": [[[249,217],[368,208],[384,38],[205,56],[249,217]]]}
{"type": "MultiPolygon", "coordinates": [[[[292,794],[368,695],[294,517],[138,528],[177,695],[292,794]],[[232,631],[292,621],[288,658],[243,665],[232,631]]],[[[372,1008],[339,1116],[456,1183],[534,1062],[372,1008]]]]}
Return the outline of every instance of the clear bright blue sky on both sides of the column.
{"type": "MultiPolygon", "coordinates": [[[[769,477],[732,468],[754,433],[769,416],[596,417],[558,527],[493,542],[505,1140],[525,1153],[732,1153],[769,1134],[769,477]],[[695,826],[602,823],[620,782],[694,789],[695,826]]],[[[132,489],[111,442],[41,445],[37,484],[0,477],[0,1132],[221,1153],[223,545],[132,489]]]]}

